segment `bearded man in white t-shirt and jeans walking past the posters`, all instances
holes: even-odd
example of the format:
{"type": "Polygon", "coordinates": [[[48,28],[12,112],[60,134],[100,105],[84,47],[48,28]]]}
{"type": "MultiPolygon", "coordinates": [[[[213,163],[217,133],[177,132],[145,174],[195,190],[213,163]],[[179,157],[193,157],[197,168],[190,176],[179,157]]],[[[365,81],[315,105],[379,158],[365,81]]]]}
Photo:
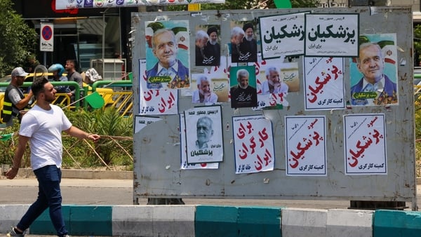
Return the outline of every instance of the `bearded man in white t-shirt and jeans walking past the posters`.
{"type": "Polygon", "coordinates": [[[32,83],[32,93],[36,97],[35,106],[24,116],[19,130],[18,147],[13,157],[13,166],[6,177],[13,179],[17,174],[29,142],[31,149],[31,165],[38,180],[39,193],[20,222],[12,228],[7,236],[24,236],[26,230],[49,208],[51,222],[58,236],[67,236],[65,221],[62,217],[62,197],[60,192],[62,165],[62,131],[94,142],[99,135],[86,133],[72,126],[62,109],[54,104],[55,93],[53,85],[47,79],[37,79],[32,83]]]}

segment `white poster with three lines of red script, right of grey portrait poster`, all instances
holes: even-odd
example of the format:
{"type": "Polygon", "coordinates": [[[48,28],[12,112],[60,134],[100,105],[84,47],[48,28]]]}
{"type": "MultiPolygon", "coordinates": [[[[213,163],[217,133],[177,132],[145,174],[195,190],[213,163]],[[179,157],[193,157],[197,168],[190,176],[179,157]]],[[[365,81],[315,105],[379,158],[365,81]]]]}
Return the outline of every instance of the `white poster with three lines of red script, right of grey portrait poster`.
{"type": "Polygon", "coordinates": [[[272,121],[265,116],[232,117],[235,173],[274,170],[272,121]]]}

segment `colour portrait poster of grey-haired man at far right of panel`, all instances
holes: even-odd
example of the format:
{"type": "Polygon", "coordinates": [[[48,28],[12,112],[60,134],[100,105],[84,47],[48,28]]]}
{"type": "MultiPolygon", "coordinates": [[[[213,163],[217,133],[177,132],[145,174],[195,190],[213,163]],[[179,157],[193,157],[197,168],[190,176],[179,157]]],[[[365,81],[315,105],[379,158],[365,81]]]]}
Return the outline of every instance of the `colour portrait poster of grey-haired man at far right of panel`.
{"type": "Polygon", "coordinates": [[[359,43],[349,62],[352,106],[399,105],[396,34],[364,34],[359,43]]]}

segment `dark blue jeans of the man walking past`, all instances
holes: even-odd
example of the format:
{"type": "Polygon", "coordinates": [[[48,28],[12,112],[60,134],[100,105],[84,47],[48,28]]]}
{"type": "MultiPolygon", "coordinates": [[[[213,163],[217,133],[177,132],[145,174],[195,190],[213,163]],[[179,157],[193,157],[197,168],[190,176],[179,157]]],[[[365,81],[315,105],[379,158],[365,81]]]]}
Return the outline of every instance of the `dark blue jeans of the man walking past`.
{"type": "Polygon", "coordinates": [[[50,218],[58,236],[65,236],[67,230],[62,216],[62,197],[60,192],[61,170],[55,165],[46,165],[34,170],[38,180],[38,198],[32,203],[17,227],[24,231],[44,212],[50,208],[50,218]]]}

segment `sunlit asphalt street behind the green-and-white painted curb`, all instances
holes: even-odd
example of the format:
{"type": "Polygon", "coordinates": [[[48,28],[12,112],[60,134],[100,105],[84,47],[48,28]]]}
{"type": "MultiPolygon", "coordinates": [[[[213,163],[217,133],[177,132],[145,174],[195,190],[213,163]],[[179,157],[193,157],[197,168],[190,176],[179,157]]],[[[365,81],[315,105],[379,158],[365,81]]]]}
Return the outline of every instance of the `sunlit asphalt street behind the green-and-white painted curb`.
{"type": "MultiPolygon", "coordinates": [[[[74,179],[63,178],[61,183],[63,204],[76,205],[133,205],[133,180],[74,179]]],[[[30,204],[37,195],[37,181],[34,177],[7,180],[0,176],[1,204],[30,204]]],[[[421,194],[421,185],[417,186],[421,194]]],[[[287,208],[349,208],[349,201],[315,200],[266,200],[266,199],[215,199],[183,198],[187,205],[262,205],[287,208]]],[[[140,198],[140,205],[147,199],[140,198]]],[[[417,205],[420,206],[420,195],[417,205]]],[[[411,207],[410,203],[406,203],[411,207]]]]}

